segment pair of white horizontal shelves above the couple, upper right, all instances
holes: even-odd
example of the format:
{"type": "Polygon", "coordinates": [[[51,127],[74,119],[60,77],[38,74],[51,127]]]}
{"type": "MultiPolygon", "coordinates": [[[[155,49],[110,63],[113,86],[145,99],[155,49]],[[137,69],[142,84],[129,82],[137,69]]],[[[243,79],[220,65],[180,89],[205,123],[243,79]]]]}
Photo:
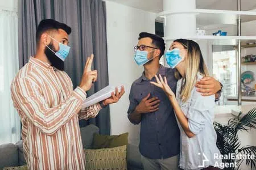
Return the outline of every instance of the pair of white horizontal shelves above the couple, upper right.
{"type": "MultiPolygon", "coordinates": [[[[241,22],[251,22],[256,20],[255,11],[229,11],[229,10],[205,10],[195,9],[193,11],[163,11],[156,15],[156,19],[165,18],[170,15],[177,14],[195,14],[197,27],[201,29],[217,29],[220,27],[236,25],[237,19],[241,17],[241,22]]],[[[181,37],[164,37],[166,41],[172,41],[181,37]]],[[[192,40],[214,40],[213,45],[235,45],[236,40],[256,40],[256,36],[189,36],[182,37],[183,39],[192,40]]],[[[252,46],[252,45],[251,45],[252,46]]],[[[256,46],[256,45],[255,45],[256,46]]]]}

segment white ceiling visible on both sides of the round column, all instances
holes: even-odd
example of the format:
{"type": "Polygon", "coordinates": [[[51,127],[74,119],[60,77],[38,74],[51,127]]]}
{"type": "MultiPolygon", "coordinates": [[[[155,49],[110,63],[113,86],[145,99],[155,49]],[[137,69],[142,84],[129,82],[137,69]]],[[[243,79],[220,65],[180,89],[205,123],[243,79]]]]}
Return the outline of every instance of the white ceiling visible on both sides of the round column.
{"type": "MultiPolygon", "coordinates": [[[[122,5],[138,8],[144,11],[162,12],[163,0],[107,0],[121,3],[122,5]]],[[[170,1],[170,0],[169,0],[170,1]]],[[[177,1],[177,0],[173,0],[177,1]]],[[[196,0],[196,8],[216,10],[237,10],[237,0],[196,0]]],[[[241,0],[241,10],[256,8],[255,0],[241,0]]]]}

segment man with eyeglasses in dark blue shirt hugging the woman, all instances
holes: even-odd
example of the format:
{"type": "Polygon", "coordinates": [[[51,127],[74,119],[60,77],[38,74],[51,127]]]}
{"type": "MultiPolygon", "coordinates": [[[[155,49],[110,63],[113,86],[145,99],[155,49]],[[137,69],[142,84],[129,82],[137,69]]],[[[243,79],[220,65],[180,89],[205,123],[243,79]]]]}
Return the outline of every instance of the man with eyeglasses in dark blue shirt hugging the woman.
{"type": "MultiPolygon", "coordinates": [[[[139,151],[142,164],[145,170],[179,169],[180,131],[174,110],[166,94],[150,83],[156,82],[154,75],[166,76],[168,85],[176,92],[175,70],[159,63],[165,50],[161,37],[142,32],[138,40],[134,59],[144,71],[131,85],[127,113],[131,123],[141,123],[139,151]]],[[[196,86],[205,96],[216,94],[221,89],[220,82],[211,77],[204,78],[196,86]]]]}

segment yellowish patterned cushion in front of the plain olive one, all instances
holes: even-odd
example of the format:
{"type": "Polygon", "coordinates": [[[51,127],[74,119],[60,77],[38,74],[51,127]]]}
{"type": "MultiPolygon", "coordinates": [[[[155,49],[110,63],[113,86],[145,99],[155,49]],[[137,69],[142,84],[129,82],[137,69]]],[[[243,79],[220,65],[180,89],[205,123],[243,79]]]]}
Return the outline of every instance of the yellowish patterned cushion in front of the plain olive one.
{"type": "Polygon", "coordinates": [[[84,150],[86,158],[86,170],[124,170],[127,169],[126,145],[102,148],[98,150],[84,150]]]}

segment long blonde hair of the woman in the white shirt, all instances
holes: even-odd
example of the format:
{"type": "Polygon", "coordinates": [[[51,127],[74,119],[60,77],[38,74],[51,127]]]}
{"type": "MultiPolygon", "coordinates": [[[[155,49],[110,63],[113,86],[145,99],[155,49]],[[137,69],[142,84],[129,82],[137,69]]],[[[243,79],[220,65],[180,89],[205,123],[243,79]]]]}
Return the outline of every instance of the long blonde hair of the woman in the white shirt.
{"type": "MultiPolygon", "coordinates": [[[[196,84],[197,73],[199,72],[203,76],[208,76],[207,66],[205,65],[203,55],[201,53],[199,45],[192,40],[177,39],[174,42],[179,42],[187,49],[188,55],[185,58],[185,77],[183,79],[183,85],[181,86],[180,96],[183,102],[187,101],[191,96],[191,91],[196,84]]],[[[179,71],[175,71],[175,78],[181,79],[179,71]]]]}

